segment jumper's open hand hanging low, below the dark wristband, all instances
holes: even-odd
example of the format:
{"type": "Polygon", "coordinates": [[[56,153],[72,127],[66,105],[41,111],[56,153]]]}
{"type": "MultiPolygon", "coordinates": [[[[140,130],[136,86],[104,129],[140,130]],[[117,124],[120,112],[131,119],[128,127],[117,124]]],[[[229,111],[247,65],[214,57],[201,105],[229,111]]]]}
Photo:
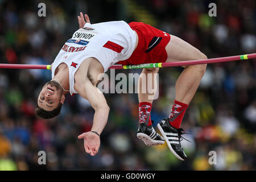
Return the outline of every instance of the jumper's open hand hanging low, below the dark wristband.
{"type": "Polygon", "coordinates": [[[84,138],[84,148],[85,152],[94,156],[98,153],[98,148],[100,148],[100,137],[93,132],[86,132],[78,136],[79,139],[84,138]]]}

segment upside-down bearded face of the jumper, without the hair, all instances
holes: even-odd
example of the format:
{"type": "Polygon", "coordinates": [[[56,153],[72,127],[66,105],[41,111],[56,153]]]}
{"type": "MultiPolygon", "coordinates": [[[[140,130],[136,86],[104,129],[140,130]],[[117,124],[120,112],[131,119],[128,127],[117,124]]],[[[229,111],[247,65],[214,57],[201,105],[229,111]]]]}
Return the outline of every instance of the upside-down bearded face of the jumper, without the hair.
{"type": "Polygon", "coordinates": [[[46,111],[56,109],[59,103],[63,104],[65,96],[63,89],[55,81],[47,82],[38,96],[38,106],[46,111]]]}

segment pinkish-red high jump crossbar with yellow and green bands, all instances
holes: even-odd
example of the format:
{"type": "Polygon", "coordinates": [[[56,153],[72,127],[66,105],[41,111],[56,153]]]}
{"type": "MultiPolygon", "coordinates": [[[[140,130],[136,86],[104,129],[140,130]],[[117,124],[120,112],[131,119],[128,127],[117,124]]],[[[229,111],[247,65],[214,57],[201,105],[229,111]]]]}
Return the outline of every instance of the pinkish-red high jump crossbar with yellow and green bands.
{"type": "MultiPolygon", "coordinates": [[[[112,65],[109,69],[139,69],[139,68],[164,68],[164,67],[179,67],[184,65],[194,64],[212,64],[223,63],[228,61],[238,61],[256,58],[256,53],[250,53],[247,55],[217,57],[212,59],[200,59],[190,61],[176,61],[170,63],[148,63],[137,65],[112,65]]],[[[51,65],[36,65],[36,64],[0,64],[0,68],[9,69],[51,69],[51,65]]]]}

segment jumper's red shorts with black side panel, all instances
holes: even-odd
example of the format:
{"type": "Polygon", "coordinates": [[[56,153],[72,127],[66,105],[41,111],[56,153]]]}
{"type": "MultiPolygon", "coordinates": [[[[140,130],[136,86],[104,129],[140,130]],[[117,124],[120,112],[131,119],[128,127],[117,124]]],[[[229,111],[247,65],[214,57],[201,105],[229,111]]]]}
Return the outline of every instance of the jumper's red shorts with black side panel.
{"type": "Polygon", "coordinates": [[[138,34],[138,46],[129,59],[118,61],[117,64],[127,65],[166,62],[166,45],[170,41],[170,34],[142,22],[131,22],[129,26],[138,34]]]}

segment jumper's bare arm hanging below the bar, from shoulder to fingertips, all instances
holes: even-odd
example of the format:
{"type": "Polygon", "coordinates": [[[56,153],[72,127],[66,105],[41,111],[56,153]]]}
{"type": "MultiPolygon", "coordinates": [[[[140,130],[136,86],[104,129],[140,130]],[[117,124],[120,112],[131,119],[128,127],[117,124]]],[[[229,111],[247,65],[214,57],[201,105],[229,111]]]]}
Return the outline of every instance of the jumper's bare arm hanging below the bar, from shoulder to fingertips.
{"type": "MultiPolygon", "coordinates": [[[[104,94],[102,94],[96,86],[93,86],[88,78],[86,78],[85,84],[80,85],[82,86],[77,89],[77,92],[80,96],[86,98],[95,110],[91,131],[96,131],[98,134],[101,134],[108,121],[109,115],[109,106],[104,94]]],[[[88,154],[92,156],[97,154],[98,148],[100,148],[100,137],[97,134],[89,131],[79,135],[78,138],[84,138],[84,148],[88,154]]]]}

